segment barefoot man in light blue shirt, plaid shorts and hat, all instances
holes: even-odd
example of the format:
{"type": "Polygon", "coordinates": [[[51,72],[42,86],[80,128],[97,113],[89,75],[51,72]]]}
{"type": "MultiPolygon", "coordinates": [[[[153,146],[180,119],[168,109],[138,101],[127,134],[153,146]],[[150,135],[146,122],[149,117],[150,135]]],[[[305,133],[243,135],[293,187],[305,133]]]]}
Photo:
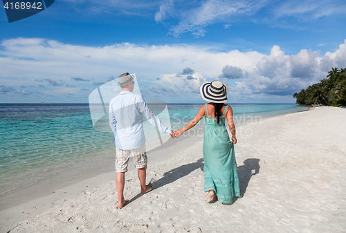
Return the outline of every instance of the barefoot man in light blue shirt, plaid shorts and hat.
{"type": "Polygon", "coordinates": [[[123,73],[118,77],[118,85],[122,91],[113,97],[109,103],[109,125],[116,140],[116,189],[118,192],[118,208],[127,204],[124,198],[125,172],[129,156],[134,157],[134,165],[138,169],[140,193],[152,190],[152,184],[145,185],[147,175],[147,153],[145,151],[145,135],[143,130],[143,115],[154,127],[162,133],[174,132],[168,129],[161,120],[147,107],[143,97],[132,93],[134,91],[134,76],[123,73]]]}

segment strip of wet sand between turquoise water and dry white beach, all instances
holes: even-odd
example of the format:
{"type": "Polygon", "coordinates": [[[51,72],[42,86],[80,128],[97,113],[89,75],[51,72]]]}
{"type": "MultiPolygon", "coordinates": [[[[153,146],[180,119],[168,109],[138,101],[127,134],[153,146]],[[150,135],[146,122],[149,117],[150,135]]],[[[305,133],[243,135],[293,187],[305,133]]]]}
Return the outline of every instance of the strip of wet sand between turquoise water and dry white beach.
{"type": "MultiPolygon", "coordinates": [[[[300,111],[308,111],[308,110],[309,109],[304,109],[300,111]]],[[[278,113],[275,115],[266,115],[260,118],[261,119],[275,118],[278,115],[298,113],[300,111],[278,113]]],[[[248,116],[248,117],[253,118],[252,116],[248,116]]],[[[245,121],[247,120],[244,119],[244,122],[243,120],[240,120],[239,122],[235,123],[236,128],[239,127],[240,129],[242,129],[242,127],[248,124],[245,121]]],[[[201,124],[202,122],[197,124],[197,127],[193,128],[192,131],[203,127],[201,126],[201,124]]],[[[181,137],[188,138],[188,137],[195,137],[195,136],[188,136],[187,133],[185,133],[185,135],[181,137]]],[[[167,141],[165,144],[161,145],[161,147],[158,147],[152,151],[154,152],[156,150],[165,149],[165,147],[167,146],[174,145],[177,141],[182,140],[181,137],[174,138],[174,140],[170,138],[170,140],[167,141]]],[[[203,138],[201,140],[203,140],[203,138]]],[[[152,153],[152,151],[149,151],[149,154],[152,153]]],[[[51,194],[52,192],[54,192],[54,190],[57,188],[63,188],[93,176],[99,176],[102,174],[115,171],[113,167],[114,161],[115,161],[115,149],[113,149],[113,147],[110,147],[108,149],[103,149],[101,151],[92,153],[91,155],[86,156],[84,158],[75,158],[73,159],[73,161],[68,161],[68,162],[65,161],[65,162],[51,165],[48,167],[36,169],[37,172],[26,171],[24,172],[24,174],[19,174],[18,176],[15,176],[13,178],[6,178],[6,183],[10,183],[11,180],[13,182],[16,182],[16,180],[21,177],[26,177],[29,182],[30,180],[33,180],[33,181],[32,183],[29,183],[25,187],[13,187],[12,189],[7,190],[6,192],[2,192],[0,194],[0,211],[8,209],[10,207],[15,207],[16,205],[21,205],[28,201],[32,201],[33,199],[47,196],[51,194]],[[93,167],[93,165],[95,165],[95,162],[97,162],[98,164],[96,168],[93,167]],[[66,167],[69,167],[69,169],[66,169],[66,167]],[[54,170],[51,168],[54,168],[54,170]],[[49,176],[45,175],[47,173],[49,174],[49,176]],[[26,176],[26,174],[28,174],[28,176],[26,176]],[[31,177],[35,177],[35,178],[31,178],[31,177]]],[[[133,167],[133,166],[129,166],[129,168],[130,167],[133,167]]]]}

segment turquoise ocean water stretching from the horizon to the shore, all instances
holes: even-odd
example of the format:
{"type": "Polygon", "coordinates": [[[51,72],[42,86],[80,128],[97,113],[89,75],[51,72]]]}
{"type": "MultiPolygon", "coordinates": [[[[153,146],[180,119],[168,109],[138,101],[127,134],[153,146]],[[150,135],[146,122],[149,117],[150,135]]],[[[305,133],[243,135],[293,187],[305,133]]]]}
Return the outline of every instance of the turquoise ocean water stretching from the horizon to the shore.
{"type": "MultiPolygon", "coordinates": [[[[307,109],[296,104],[230,106],[236,126],[249,117],[307,109]]],[[[200,107],[201,104],[167,104],[172,129],[181,129],[190,122],[200,107]]],[[[203,127],[203,122],[198,127],[203,127]]],[[[114,147],[111,131],[93,128],[89,104],[0,104],[0,136],[0,184],[20,174],[54,169],[61,162],[92,157],[114,147]]]]}

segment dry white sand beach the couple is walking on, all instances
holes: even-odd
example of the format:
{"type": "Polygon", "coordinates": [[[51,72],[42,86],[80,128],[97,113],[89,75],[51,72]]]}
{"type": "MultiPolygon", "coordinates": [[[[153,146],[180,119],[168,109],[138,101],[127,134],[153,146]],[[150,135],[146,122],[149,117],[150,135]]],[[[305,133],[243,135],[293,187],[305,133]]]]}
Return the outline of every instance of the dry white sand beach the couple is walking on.
{"type": "Polygon", "coordinates": [[[345,232],[346,109],[323,106],[236,127],[243,197],[233,205],[203,200],[203,137],[181,136],[148,153],[152,192],[140,194],[129,165],[124,208],[116,209],[111,171],[2,210],[0,231],[345,232]]]}

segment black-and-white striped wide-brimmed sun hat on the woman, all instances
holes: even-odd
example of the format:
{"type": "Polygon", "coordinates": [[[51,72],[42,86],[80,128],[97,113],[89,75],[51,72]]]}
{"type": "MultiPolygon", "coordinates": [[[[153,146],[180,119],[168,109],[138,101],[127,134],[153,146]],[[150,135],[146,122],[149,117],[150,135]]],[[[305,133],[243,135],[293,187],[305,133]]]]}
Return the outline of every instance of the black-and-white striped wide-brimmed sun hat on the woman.
{"type": "Polygon", "coordinates": [[[227,100],[227,86],[220,81],[205,82],[200,90],[203,100],[212,103],[224,103],[227,100]]]}

